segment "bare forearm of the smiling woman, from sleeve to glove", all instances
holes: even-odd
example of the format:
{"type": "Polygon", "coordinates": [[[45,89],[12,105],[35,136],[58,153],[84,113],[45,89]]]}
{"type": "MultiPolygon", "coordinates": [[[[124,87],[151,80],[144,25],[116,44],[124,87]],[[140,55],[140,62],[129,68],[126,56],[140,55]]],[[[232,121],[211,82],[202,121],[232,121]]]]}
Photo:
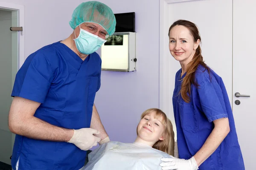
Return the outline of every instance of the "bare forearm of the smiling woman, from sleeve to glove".
{"type": "Polygon", "coordinates": [[[194,158],[198,164],[198,167],[218,148],[221,142],[229,133],[229,128],[217,128],[212,130],[212,133],[208,136],[207,140],[200,150],[195,154],[194,158]]]}

